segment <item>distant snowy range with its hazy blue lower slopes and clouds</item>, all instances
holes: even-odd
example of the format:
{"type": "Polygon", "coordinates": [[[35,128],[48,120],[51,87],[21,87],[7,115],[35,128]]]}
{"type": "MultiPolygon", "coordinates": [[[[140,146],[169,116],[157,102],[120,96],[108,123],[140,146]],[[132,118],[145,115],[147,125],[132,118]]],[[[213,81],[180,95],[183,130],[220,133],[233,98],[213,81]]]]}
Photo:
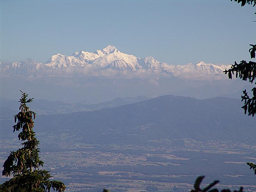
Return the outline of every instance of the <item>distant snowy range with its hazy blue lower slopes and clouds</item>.
{"type": "Polygon", "coordinates": [[[140,59],[109,45],[95,52],[74,52],[71,56],[58,53],[45,63],[0,61],[0,98],[18,100],[19,90],[36,99],[72,104],[138,95],[154,98],[171,94],[206,99],[230,97],[237,92],[236,98],[240,98],[247,82],[228,79],[223,71],[230,67],[203,61],[169,65],[153,57],[140,59]]]}

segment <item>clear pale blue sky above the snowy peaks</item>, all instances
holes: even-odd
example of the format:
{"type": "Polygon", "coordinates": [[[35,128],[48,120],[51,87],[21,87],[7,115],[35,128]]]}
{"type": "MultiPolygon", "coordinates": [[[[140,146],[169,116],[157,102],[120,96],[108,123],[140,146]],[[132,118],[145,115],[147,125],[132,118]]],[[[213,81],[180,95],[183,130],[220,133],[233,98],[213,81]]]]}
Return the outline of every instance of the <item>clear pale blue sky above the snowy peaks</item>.
{"type": "Polygon", "coordinates": [[[108,44],[169,64],[249,60],[256,7],[230,0],[0,0],[0,59],[93,52],[108,44]]]}

